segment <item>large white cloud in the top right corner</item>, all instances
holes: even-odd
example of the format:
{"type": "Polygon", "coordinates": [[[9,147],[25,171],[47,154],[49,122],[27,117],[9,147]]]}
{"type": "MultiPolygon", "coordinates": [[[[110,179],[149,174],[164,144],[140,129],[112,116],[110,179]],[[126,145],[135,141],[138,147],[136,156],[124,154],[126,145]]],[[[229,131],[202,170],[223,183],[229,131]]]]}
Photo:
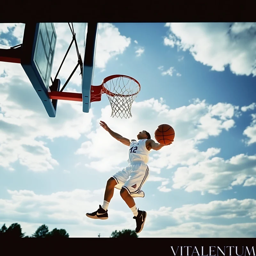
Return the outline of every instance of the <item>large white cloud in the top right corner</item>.
{"type": "Polygon", "coordinates": [[[256,76],[256,22],[166,23],[164,44],[191,52],[196,61],[236,75],[256,76]]]}

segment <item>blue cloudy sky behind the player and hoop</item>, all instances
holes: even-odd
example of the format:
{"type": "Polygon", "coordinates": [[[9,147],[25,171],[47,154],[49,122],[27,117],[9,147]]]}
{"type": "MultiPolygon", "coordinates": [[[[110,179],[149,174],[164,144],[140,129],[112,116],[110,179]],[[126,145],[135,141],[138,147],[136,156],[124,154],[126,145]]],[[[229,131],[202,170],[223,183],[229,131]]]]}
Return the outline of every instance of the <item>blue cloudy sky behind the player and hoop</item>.
{"type": "MultiPolygon", "coordinates": [[[[52,77],[72,40],[54,23],[52,77]]],[[[0,24],[0,48],[21,44],[24,24],[0,24]]],[[[80,51],[84,24],[74,23],[80,51]]],[[[77,64],[73,45],[58,78],[77,64]]],[[[80,70],[65,91],[81,92],[80,70]]],[[[132,117],[111,117],[105,94],[89,113],[58,100],[44,106],[20,64],[0,62],[0,226],[26,235],[45,224],[70,237],[109,237],[136,227],[115,189],[108,220],[92,220],[106,182],[128,163],[128,139],[160,124],[174,142],[149,154],[137,208],[148,213],[139,237],[256,237],[256,23],[100,23],[93,85],[114,74],[139,81],[132,117]]]]}

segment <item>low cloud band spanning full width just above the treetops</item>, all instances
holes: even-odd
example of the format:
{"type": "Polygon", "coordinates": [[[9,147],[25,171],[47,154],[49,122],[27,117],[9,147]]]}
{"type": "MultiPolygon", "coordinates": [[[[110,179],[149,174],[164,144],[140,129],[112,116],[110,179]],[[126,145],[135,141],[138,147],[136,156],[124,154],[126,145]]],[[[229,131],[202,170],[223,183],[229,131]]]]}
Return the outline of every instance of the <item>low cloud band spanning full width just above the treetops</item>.
{"type": "MultiPolygon", "coordinates": [[[[107,221],[93,222],[85,216],[86,212],[95,209],[102,203],[104,189],[59,191],[52,194],[37,194],[31,190],[8,190],[10,198],[0,199],[0,224],[18,222],[28,235],[35,232],[39,225],[46,224],[49,228],[66,228],[71,237],[95,236],[92,231],[104,232],[110,236],[115,229],[134,229],[135,222],[132,213],[116,210],[111,204],[111,214],[107,221]]],[[[115,190],[116,192],[116,190],[115,190]]],[[[114,193],[113,199],[120,199],[114,193]]],[[[255,219],[256,200],[229,199],[226,201],[212,201],[207,204],[188,204],[181,207],[160,207],[148,210],[147,225],[140,237],[254,237],[255,223],[248,220],[255,219]],[[212,224],[212,219],[227,220],[240,218],[244,223],[232,225],[212,224]],[[195,221],[196,220],[196,221],[195,221]],[[250,224],[250,225],[249,225],[250,224]],[[173,231],[173,232],[171,232],[173,231]],[[193,232],[192,232],[193,231],[193,232]],[[235,235],[232,232],[236,231],[235,235]]],[[[9,224],[10,225],[10,224],[9,224]]]]}

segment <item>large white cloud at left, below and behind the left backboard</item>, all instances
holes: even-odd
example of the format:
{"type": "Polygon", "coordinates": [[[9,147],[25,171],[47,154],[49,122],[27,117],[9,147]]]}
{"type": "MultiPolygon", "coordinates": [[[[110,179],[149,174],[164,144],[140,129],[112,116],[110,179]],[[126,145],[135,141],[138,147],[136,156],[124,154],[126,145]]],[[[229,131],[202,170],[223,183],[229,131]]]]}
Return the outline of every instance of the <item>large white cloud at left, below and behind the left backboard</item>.
{"type": "Polygon", "coordinates": [[[42,138],[78,139],[90,131],[92,112],[84,114],[80,102],[59,101],[50,118],[20,65],[0,63],[0,70],[6,74],[0,77],[0,165],[13,170],[19,161],[32,171],[53,169],[58,162],[42,138]]]}

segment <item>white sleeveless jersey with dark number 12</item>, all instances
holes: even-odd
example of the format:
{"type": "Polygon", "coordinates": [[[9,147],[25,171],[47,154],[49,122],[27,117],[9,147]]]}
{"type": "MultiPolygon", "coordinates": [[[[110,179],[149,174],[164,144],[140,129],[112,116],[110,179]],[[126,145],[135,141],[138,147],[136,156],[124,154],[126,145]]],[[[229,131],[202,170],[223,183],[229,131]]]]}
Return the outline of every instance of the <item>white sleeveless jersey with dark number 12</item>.
{"type": "Polygon", "coordinates": [[[147,139],[132,141],[128,151],[128,163],[142,161],[148,163],[149,150],[146,148],[147,139]]]}

